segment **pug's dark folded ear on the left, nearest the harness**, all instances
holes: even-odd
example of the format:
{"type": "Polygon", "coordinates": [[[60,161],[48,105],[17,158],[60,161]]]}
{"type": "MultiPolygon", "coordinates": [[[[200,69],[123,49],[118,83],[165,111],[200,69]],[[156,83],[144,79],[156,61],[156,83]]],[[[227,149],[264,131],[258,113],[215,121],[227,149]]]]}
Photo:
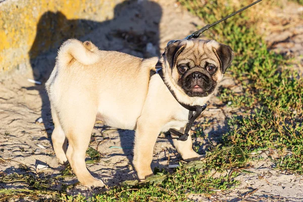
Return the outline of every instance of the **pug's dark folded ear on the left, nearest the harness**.
{"type": "Polygon", "coordinates": [[[174,68],[178,56],[182,53],[185,47],[186,43],[184,41],[176,41],[174,43],[170,43],[168,46],[165,47],[165,52],[163,55],[166,56],[166,59],[171,69],[174,68]]]}

